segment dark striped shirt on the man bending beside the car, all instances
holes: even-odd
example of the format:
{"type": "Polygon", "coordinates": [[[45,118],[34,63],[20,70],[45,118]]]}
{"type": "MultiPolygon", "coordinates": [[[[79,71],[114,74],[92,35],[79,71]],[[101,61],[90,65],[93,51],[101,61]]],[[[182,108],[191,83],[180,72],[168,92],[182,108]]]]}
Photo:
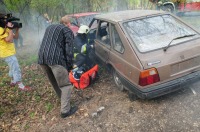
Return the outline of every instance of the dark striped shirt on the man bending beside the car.
{"type": "Polygon", "coordinates": [[[47,27],[39,49],[38,64],[62,65],[69,68],[73,59],[74,35],[63,24],[47,27]]]}

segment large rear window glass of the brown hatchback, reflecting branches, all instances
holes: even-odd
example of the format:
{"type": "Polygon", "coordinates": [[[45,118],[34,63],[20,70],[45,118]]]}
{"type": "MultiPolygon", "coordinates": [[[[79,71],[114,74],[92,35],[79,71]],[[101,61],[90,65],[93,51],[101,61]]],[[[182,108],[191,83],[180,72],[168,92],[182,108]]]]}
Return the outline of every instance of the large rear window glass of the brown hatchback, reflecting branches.
{"type": "MultiPolygon", "coordinates": [[[[166,47],[176,37],[197,34],[190,27],[171,15],[131,20],[123,23],[123,27],[140,52],[148,52],[166,47]]],[[[177,39],[171,45],[193,37],[195,36],[177,39]]]]}

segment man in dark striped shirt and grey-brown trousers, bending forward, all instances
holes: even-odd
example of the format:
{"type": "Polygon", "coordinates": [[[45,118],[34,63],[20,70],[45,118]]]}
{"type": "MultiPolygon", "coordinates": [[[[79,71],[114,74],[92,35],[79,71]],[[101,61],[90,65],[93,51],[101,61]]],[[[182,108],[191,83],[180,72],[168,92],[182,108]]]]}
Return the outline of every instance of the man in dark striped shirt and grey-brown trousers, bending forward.
{"type": "Polygon", "coordinates": [[[47,27],[39,50],[38,64],[61,98],[61,117],[65,118],[74,114],[78,108],[70,106],[72,85],[68,79],[68,72],[73,65],[74,35],[68,28],[70,21],[67,16],[62,17],[60,23],[47,27]]]}

